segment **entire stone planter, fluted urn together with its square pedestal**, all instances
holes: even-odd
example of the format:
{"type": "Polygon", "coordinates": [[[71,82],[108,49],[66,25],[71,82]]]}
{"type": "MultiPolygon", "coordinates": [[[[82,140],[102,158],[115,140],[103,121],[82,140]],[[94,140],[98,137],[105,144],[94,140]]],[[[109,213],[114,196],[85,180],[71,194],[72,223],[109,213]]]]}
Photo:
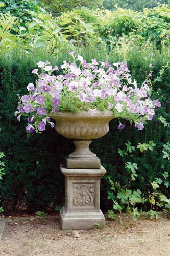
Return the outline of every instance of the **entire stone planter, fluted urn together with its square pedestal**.
{"type": "Polygon", "coordinates": [[[75,113],[57,112],[51,115],[56,121],[55,129],[68,139],[73,139],[75,151],[60,165],[65,175],[65,205],[60,211],[62,229],[88,230],[96,225],[105,226],[100,210],[100,180],[106,173],[100,159],[90,151],[92,139],[109,131],[109,121],[116,118],[112,111],[75,113]]]}

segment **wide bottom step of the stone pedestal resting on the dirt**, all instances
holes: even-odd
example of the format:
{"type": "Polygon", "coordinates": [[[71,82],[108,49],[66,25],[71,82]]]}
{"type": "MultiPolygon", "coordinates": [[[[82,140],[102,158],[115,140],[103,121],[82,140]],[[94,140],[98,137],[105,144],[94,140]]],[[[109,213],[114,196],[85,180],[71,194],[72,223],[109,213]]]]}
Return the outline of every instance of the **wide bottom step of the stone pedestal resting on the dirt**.
{"type": "Polygon", "coordinates": [[[100,210],[99,212],[66,212],[60,210],[60,224],[63,230],[90,230],[94,227],[104,228],[106,221],[100,210]]]}

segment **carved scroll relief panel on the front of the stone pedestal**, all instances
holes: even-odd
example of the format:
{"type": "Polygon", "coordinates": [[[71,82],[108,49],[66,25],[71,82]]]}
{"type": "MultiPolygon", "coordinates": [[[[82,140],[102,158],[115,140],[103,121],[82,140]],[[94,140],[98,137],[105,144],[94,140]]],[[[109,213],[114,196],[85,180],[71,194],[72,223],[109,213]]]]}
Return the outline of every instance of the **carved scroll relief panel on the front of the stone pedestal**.
{"type": "Polygon", "coordinates": [[[94,205],[94,183],[93,184],[73,184],[74,198],[76,206],[94,205]]]}

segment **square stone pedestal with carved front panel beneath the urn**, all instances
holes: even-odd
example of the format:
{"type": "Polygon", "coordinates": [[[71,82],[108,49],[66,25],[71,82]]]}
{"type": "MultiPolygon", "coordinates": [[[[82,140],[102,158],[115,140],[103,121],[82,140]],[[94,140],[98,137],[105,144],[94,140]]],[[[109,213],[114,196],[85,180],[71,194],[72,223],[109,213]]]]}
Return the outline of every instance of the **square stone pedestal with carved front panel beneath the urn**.
{"type": "Polygon", "coordinates": [[[100,169],[67,169],[60,165],[65,175],[65,205],[60,210],[61,228],[89,230],[103,228],[105,217],[100,210],[100,180],[106,173],[100,169]]]}

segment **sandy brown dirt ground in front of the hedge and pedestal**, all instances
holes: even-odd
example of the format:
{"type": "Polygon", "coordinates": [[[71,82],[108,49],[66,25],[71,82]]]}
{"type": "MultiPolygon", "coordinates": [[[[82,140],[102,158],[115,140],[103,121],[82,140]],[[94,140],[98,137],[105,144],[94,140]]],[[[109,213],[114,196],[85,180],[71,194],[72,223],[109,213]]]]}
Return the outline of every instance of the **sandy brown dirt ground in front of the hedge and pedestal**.
{"type": "Polygon", "coordinates": [[[170,220],[107,221],[103,230],[63,231],[58,218],[7,223],[0,255],[169,256],[170,220]]]}

